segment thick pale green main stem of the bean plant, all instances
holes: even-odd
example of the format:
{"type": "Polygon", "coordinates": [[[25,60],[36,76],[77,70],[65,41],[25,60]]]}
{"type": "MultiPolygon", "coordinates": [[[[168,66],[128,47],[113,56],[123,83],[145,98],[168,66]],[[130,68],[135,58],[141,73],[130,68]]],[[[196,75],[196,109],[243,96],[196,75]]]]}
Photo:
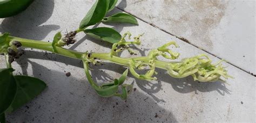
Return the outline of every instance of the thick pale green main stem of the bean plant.
{"type": "MultiPolygon", "coordinates": [[[[55,54],[71,57],[73,59],[84,60],[85,53],[77,52],[75,50],[65,49],[62,47],[56,47],[56,51],[53,50],[51,42],[46,41],[37,41],[37,40],[30,40],[18,37],[9,37],[9,40],[16,40],[21,42],[23,47],[28,48],[35,48],[35,49],[42,49],[46,50],[55,54]]],[[[143,61],[145,64],[149,63],[149,57],[147,56],[140,56],[140,57],[131,57],[131,58],[123,58],[118,56],[110,56],[110,53],[92,53],[90,57],[95,57],[100,60],[107,60],[116,64],[120,64],[123,66],[130,67],[132,61],[143,61]]],[[[156,67],[161,69],[166,69],[166,65],[172,62],[165,62],[156,60],[156,67]]]]}

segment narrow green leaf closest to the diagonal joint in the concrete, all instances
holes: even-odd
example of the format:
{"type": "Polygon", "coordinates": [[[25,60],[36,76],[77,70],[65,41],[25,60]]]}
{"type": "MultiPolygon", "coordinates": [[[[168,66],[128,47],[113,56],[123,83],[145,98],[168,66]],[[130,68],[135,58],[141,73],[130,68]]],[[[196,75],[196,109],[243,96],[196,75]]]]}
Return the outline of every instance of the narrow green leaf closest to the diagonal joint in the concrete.
{"type": "Polygon", "coordinates": [[[106,17],[102,20],[103,22],[122,22],[138,25],[138,21],[133,16],[127,13],[116,13],[110,17],[106,17]]]}

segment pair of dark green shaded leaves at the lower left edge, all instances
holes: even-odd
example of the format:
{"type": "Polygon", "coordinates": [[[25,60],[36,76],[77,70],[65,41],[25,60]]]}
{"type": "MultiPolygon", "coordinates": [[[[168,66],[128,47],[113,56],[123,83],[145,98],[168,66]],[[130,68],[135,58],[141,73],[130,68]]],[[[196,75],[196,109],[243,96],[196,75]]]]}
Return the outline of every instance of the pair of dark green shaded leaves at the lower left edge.
{"type": "Polygon", "coordinates": [[[12,71],[12,68],[0,69],[0,117],[30,102],[46,88],[40,79],[14,76],[12,71]]]}

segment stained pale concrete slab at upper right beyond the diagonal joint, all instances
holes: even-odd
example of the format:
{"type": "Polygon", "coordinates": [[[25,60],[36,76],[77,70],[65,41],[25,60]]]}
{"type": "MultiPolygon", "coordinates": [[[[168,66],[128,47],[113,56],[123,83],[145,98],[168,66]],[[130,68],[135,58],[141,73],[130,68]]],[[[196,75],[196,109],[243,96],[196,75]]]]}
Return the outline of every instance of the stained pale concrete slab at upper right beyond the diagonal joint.
{"type": "Polygon", "coordinates": [[[256,73],[255,1],[119,2],[119,9],[177,37],[183,37],[247,72],[256,73]]]}

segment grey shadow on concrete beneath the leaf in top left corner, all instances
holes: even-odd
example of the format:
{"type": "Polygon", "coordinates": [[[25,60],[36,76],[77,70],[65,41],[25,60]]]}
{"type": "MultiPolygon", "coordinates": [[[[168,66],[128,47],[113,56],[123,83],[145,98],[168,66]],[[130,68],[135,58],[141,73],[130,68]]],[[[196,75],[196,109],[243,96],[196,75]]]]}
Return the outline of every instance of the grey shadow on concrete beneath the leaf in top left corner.
{"type": "Polygon", "coordinates": [[[35,1],[19,15],[5,18],[1,24],[0,32],[9,32],[17,37],[42,40],[51,31],[60,28],[59,25],[42,25],[51,17],[54,5],[53,0],[35,1]],[[34,34],[35,32],[37,34],[34,34]]]}

